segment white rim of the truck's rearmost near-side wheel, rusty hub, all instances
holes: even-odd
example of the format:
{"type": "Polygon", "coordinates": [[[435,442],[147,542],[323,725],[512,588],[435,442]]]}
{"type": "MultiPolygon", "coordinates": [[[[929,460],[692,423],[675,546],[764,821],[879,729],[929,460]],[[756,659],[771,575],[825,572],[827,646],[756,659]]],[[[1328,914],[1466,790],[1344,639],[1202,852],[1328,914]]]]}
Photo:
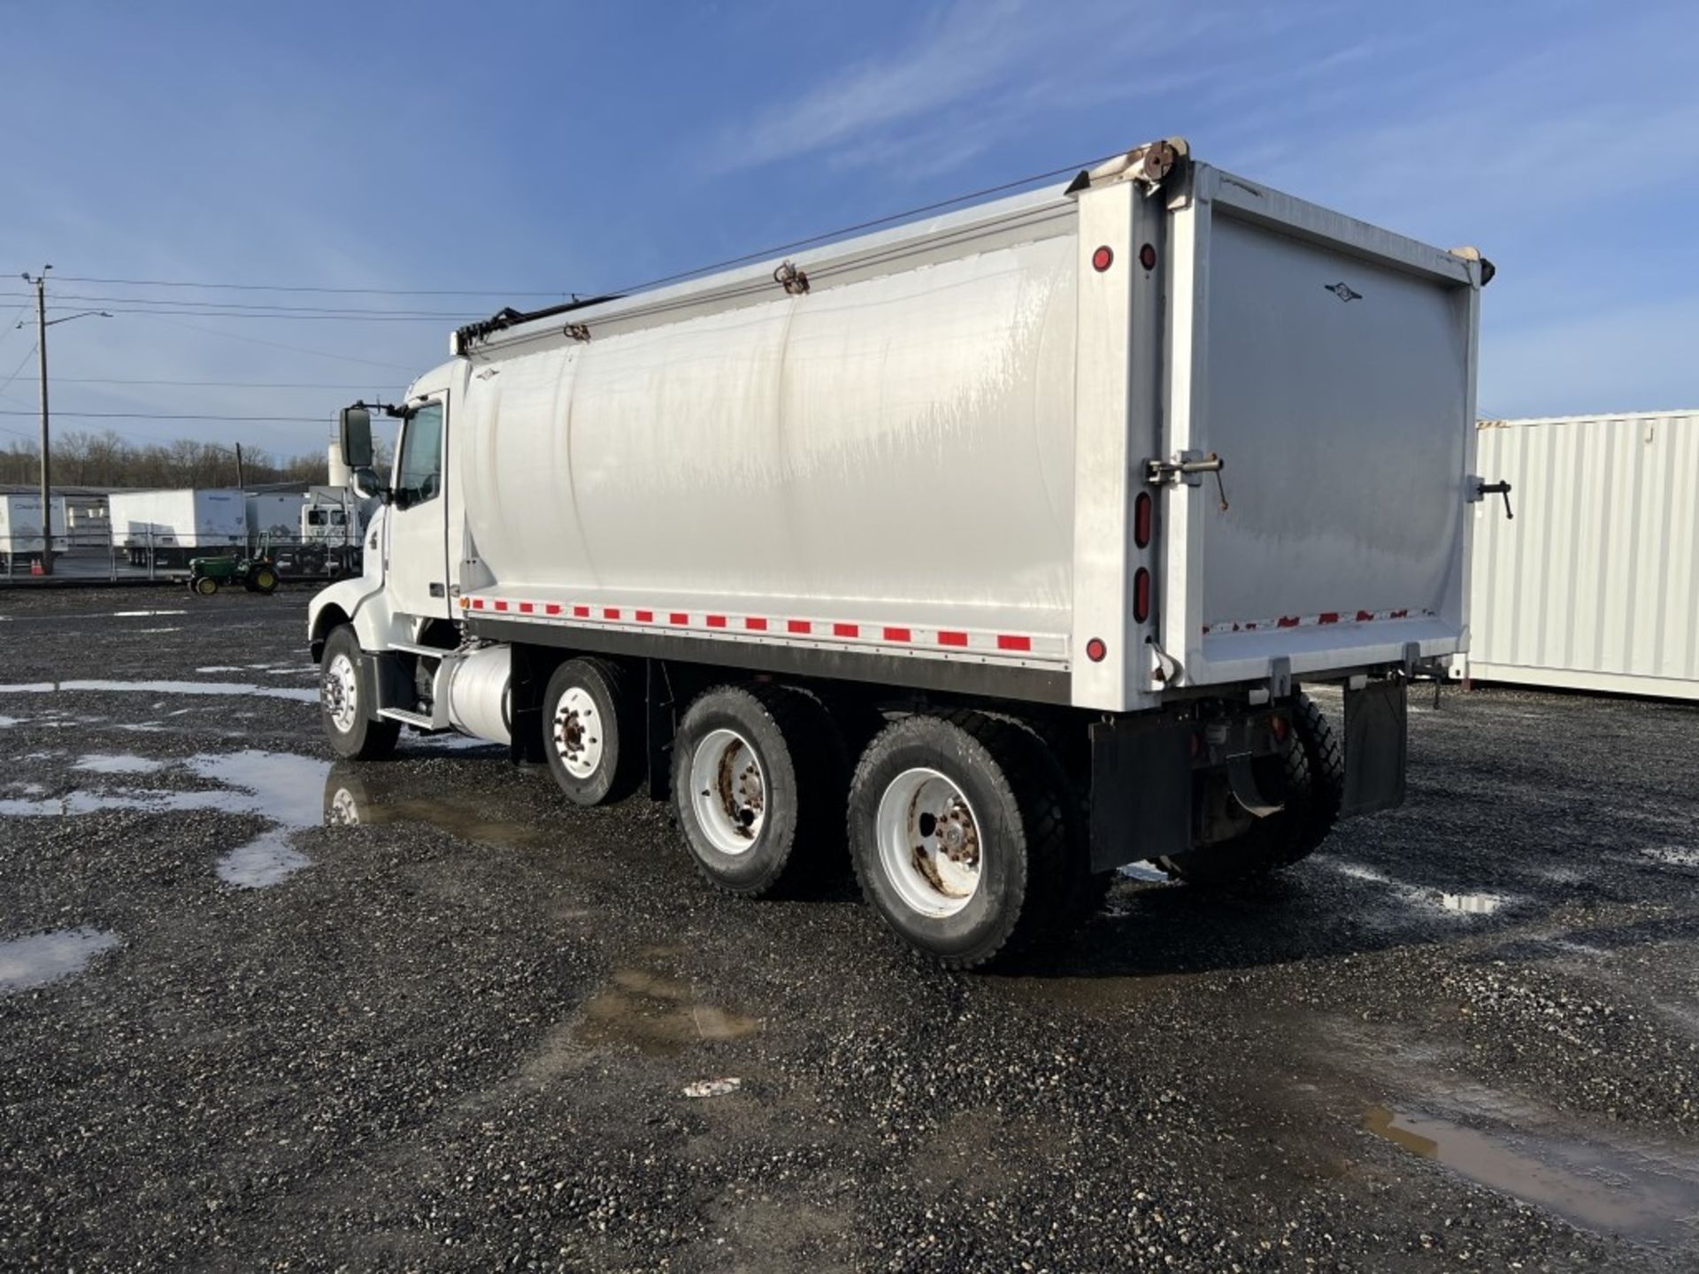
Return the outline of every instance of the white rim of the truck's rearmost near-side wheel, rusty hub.
{"type": "Polygon", "coordinates": [[[904,769],[875,815],[878,861],[902,904],[943,919],[979,893],[984,848],[967,793],[936,769],[904,769]]]}

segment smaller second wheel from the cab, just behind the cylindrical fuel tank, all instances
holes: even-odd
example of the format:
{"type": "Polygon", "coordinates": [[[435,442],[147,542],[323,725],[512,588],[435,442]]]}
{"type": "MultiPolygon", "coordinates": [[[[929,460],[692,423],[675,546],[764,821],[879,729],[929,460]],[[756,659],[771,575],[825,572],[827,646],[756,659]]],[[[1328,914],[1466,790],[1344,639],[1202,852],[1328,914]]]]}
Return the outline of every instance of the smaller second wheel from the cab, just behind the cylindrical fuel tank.
{"type": "Polygon", "coordinates": [[[542,751],[574,805],[618,800],[637,785],[642,734],[625,671],[607,659],[567,659],[542,696],[542,751]]]}

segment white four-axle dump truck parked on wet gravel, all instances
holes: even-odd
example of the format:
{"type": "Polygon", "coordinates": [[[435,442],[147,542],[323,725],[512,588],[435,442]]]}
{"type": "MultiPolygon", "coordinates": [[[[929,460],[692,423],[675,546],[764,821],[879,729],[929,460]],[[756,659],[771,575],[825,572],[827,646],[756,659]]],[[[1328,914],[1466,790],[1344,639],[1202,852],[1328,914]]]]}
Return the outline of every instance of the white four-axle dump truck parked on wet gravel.
{"type": "Polygon", "coordinates": [[[1115,868],[1271,871],[1403,798],[1466,644],[1492,267],[1140,146],[1065,187],[462,328],[341,414],[331,747],[671,798],[715,887],[843,860],[972,968],[1115,868]],[[1301,691],[1344,688],[1329,724],[1301,691]]]}

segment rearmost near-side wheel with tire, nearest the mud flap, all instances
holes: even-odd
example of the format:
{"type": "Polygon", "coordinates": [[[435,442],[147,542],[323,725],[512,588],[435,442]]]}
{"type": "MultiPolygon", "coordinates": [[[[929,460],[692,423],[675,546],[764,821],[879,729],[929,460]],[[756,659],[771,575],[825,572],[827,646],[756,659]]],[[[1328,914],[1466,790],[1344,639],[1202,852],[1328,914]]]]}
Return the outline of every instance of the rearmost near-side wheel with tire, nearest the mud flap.
{"type": "Polygon", "coordinates": [[[885,924],[946,968],[1019,953],[1065,922],[1079,866],[1041,744],[974,712],[907,717],[850,785],[850,851],[885,924]]]}

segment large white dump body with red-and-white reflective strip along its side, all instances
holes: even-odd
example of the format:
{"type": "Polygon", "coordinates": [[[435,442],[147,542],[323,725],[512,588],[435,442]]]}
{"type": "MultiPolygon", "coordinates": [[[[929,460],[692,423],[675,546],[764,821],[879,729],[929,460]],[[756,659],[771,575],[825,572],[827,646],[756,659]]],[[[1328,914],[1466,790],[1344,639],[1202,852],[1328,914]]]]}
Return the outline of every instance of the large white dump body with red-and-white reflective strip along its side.
{"type": "Polygon", "coordinates": [[[443,605],[1106,710],[1448,656],[1480,282],[1188,161],[464,335],[443,605]]]}

